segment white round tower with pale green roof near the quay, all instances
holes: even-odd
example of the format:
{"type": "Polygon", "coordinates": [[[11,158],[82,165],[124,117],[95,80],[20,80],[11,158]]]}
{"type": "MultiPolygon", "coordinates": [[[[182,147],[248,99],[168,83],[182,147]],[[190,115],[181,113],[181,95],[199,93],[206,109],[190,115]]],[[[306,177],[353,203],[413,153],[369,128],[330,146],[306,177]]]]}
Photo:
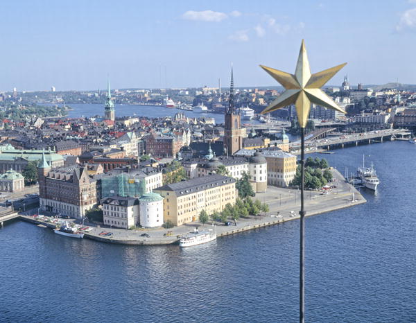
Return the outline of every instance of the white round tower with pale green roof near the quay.
{"type": "Polygon", "coordinates": [[[164,223],[163,198],[157,193],[146,193],[139,198],[141,227],[160,227],[164,223]]]}

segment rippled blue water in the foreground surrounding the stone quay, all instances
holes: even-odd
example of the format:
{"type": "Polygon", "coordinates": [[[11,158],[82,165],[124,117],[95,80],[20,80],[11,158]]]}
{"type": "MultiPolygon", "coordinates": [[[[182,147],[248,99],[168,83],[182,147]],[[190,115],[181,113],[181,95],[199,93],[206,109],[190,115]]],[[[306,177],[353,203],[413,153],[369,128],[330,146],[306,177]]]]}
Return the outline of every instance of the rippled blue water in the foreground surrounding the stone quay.
{"type": "MultiPolygon", "coordinates": [[[[366,204],[306,219],[307,322],[415,322],[416,145],[334,150],[374,161],[366,204]]],[[[0,322],[297,322],[299,222],[179,247],[0,230],[0,322]]]]}

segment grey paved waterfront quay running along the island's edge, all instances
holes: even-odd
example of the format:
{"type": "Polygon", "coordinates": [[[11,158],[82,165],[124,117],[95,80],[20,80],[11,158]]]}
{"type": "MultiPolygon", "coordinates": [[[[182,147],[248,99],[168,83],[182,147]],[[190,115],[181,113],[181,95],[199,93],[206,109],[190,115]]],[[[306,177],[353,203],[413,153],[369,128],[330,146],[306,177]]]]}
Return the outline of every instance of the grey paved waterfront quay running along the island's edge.
{"type": "MultiPolygon", "coordinates": [[[[320,213],[343,209],[345,207],[354,207],[355,205],[367,202],[363,195],[359,193],[354,186],[347,183],[343,175],[336,169],[332,169],[333,182],[335,188],[328,190],[327,193],[322,191],[305,191],[305,208],[306,216],[315,216],[320,213]]],[[[250,218],[241,218],[231,225],[223,225],[216,222],[216,233],[218,237],[228,236],[247,232],[252,229],[268,227],[270,225],[279,225],[286,221],[297,220],[300,218],[300,191],[298,189],[284,189],[275,186],[268,186],[267,193],[258,193],[254,199],[266,202],[270,211],[261,216],[251,216],[250,218]]],[[[21,220],[26,220],[44,227],[55,228],[55,224],[38,220],[33,216],[20,214],[21,220]]],[[[105,243],[117,243],[125,245],[168,245],[177,243],[180,236],[192,232],[196,227],[202,229],[211,229],[211,222],[202,225],[200,222],[190,222],[186,225],[173,227],[171,229],[114,229],[110,227],[101,227],[89,222],[85,225],[92,228],[91,231],[85,232],[84,238],[89,238],[105,243]],[[101,232],[111,232],[111,236],[102,236],[101,232]],[[149,236],[141,236],[148,234],[149,236]]]]}

